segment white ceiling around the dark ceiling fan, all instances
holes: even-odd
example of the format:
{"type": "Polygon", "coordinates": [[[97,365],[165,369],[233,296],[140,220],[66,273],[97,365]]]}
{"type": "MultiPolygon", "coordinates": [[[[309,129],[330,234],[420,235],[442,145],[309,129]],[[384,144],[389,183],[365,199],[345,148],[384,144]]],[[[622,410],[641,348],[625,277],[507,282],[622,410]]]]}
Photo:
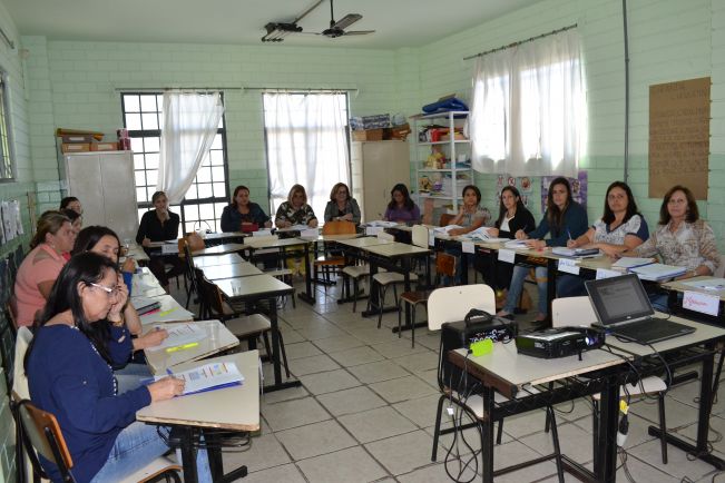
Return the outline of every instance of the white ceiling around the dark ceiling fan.
{"type": "MultiPolygon", "coordinates": [[[[335,19],[360,13],[347,30],[369,36],[293,34],[285,46],[393,49],[419,47],[539,0],[335,0],[335,19]]],[[[261,45],[267,22],[291,22],[315,0],[0,0],[23,36],[49,40],[261,45]]],[[[300,21],[329,27],[325,0],[300,21]]],[[[270,45],[271,48],[274,45],[270,45]]]]}

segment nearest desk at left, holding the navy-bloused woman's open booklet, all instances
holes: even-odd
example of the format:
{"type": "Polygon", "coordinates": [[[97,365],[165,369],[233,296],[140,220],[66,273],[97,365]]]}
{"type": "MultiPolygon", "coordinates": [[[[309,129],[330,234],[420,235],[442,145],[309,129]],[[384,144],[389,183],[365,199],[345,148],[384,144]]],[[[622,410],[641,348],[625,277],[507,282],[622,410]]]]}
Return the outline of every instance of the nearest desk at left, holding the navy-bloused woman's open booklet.
{"type": "MultiPolygon", "coordinates": [[[[221,362],[234,362],[244,376],[244,383],[158,401],[136,413],[137,421],[176,426],[182,430],[182,463],[185,482],[197,481],[195,444],[199,433],[205,433],[205,441],[209,442],[214,440],[214,430],[243,432],[259,430],[259,353],[257,351],[214,357],[203,363],[186,363],[175,369],[185,371],[198,367],[200,364],[221,362]]],[[[234,481],[246,475],[245,466],[222,475],[224,469],[219,447],[210,445],[208,452],[214,481],[234,481]]]]}

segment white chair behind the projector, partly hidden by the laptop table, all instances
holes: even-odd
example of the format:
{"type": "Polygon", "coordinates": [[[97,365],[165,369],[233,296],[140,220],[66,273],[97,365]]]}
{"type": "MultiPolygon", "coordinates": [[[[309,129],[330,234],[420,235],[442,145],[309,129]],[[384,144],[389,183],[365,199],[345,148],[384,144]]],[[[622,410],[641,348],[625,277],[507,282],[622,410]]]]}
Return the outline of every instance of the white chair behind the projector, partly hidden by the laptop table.
{"type": "MultiPolygon", "coordinates": [[[[566,298],[555,298],[551,302],[551,326],[552,327],[564,327],[568,325],[584,325],[589,326],[596,324],[599,321],[597,319],[597,314],[594,312],[591,306],[591,300],[588,296],[581,297],[566,297],[566,298]]],[[[665,418],[665,392],[667,391],[667,384],[663,381],[662,377],[657,376],[647,376],[634,383],[629,383],[626,386],[619,387],[619,394],[626,393],[630,396],[638,396],[645,394],[657,394],[657,407],[659,412],[659,428],[662,431],[660,436],[660,446],[662,446],[662,461],[664,464],[667,464],[667,423],[665,418]]],[[[601,394],[595,394],[591,396],[595,404],[598,404],[601,398],[601,394]]],[[[594,416],[594,414],[592,414],[594,416]]],[[[598,434],[598,427],[596,426],[597,421],[594,420],[595,425],[595,441],[598,434]]]]}

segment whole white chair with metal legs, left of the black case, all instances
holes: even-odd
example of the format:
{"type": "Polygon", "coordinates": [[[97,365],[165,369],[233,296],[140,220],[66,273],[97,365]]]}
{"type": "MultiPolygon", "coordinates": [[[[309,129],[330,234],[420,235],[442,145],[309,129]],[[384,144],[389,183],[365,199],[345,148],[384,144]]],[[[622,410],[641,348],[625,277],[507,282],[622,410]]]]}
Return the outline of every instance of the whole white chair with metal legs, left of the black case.
{"type": "MultiPolygon", "coordinates": [[[[447,322],[458,322],[466,318],[470,309],[478,308],[486,310],[489,314],[496,313],[496,294],[491,287],[483,284],[477,285],[461,285],[454,287],[442,287],[433,290],[428,298],[428,329],[440,331],[442,325],[447,322]]],[[[438,440],[441,432],[441,413],[443,403],[450,401],[453,404],[466,411],[477,423],[481,438],[486,437],[481,427],[481,421],[487,415],[483,414],[483,398],[480,395],[473,394],[466,400],[461,400],[459,394],[453,388],[445,385],[443,381],[443,365],[445,364],[447,355],[443,354],[442,343],[441,349],[438,355],[438,386],[441,396],[438,400],[438,411],[435,413],[435,430],[433,433],[433,451],[431,461],[435,461],[438,454],[438,440]]],[[[520,397],[521,400],[527,396],[520,397]]],[[[494,401],[497,403],[507,401],[504,396],[496,393],[494,401]]],[[[564,482],[564,470],[561,466],[561,452],[559,448],[559,437],[556,426],[556,418],[553,408],[547,407],[547,415],[551,418],[551,435],[553,440],[555,456],[557,461],[557,473],[559,481],[564,482]]],[[[499,434],[501,432],[502,420],[499,421],[499,434]]],[[[500,441],[497,441],[500,443],[500,441]]]]}

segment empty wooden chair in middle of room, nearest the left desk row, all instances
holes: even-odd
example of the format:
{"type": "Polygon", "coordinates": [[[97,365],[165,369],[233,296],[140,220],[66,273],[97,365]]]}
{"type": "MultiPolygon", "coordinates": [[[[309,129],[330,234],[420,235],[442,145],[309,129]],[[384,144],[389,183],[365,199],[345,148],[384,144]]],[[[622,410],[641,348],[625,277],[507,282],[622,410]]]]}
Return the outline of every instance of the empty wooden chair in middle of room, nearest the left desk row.
{"type": "MultiPolygon", "coordinates": [[[[249,351],[257,348],[257,337],[262,336],[264,348],[268,357],[272,357],[272,348],[267,334],[272,331],[272,322],[262,314],[242,315],[231,312],[228,305],[224,303],[222,290],[214,283],[202,276],[198,278],[204,299],[204,318],[218,318],[239,341],[246,341],[249,351]]],[[[284,369],[290,377],[290,365],[287,364],[287,354],[284,349],[284,339],[282,333],[277,332],[280,337],[280,348],[282,352],[282,362],[284,369]]]]}

